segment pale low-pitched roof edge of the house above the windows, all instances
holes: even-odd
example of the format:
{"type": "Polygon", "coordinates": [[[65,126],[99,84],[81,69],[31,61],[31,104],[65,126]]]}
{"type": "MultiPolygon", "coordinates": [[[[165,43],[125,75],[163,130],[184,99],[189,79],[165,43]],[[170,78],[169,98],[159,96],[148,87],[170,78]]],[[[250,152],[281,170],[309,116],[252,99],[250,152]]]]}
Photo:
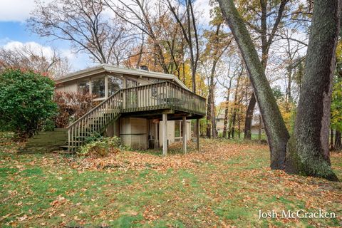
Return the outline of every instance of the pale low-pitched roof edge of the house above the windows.
{"type": "Polygon", "coordinates": [[[85,78],[88,76],[92,76],[96,73],[103,73],[103,72],[110,72],[110,73],[124,73],[128,75],[133,75],[133,76],[144,76],[144,77],[149,77],[149,78],[161,78],[161,79],[168,79],[168,80],[173,80],[177,82],[182,88],[187,88],[180,79],[178,79],[176,76],[172,74],[167,74],[167,73],[158,73],[158,72],[153,72],[153,71],[145,71],[141,69],[133,69],[133,68],[123,68],[123,67],[118,67],[118,66],[113,66],[110,64],[100,64],[98,66],[94,66],[91,68],[86,68],[81,71],[76,71],[74,73],[69,73],[66,76],[63,76],[62,78],[56,79],[56,83],[65,83],[67,81],[73,81],[79,78],[85,78]]]}

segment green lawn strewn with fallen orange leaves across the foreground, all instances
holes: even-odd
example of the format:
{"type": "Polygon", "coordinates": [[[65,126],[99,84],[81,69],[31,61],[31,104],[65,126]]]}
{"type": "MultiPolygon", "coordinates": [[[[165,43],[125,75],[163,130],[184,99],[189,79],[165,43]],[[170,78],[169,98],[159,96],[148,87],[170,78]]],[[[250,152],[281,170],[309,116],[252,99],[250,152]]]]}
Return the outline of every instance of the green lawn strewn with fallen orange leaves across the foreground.
{"type": "MultiPolygon", "coordinates": [[[[94,160],[16,155],[19,145],[2,133],[0,227],[341,226],[341,183],[270,170],[267,147],[254,142],[201,144],[187,155],[151,150],[94,160]],[[120,165],[103,168],[113,160],[120,165]],[[259,219],[259,209],[338,217],[259,219]]],[[[341,179],[341,154],[331,160],[341,179]]]]}

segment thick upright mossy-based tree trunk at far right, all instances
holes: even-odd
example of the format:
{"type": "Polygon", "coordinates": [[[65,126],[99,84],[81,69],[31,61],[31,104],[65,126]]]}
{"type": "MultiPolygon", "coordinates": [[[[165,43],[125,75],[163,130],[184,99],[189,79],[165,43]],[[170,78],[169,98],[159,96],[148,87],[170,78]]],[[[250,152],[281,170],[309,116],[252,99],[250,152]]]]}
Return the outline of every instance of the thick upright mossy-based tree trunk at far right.
{"type": "Polygon", "coordinates": [[[330,167],[328,135],[340,14],[341,0],[315,0],[287,172],[338,180],[330,167]]]}

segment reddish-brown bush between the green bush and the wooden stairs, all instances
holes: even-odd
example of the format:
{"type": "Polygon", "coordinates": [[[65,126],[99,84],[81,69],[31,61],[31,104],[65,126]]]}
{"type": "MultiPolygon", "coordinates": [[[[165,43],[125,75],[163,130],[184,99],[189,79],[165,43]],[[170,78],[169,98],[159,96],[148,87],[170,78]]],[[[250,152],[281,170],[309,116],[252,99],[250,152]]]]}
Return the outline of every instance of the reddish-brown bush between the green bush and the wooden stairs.
{"type": "Polygon", "coordinates": [[[53,100],[58,105],[58,115],[54,119],[57,128],[66,128],[70,122],[81,118],[94,107],[95,95],[88,93],[56,92],[53,100]]]}

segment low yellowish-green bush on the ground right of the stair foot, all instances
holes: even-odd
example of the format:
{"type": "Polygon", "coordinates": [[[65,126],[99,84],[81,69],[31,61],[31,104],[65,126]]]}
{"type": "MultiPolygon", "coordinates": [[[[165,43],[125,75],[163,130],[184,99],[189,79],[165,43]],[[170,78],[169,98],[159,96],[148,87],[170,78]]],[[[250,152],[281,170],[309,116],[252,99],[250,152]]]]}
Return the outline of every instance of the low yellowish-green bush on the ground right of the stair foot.
{"type": "Polygon", "coordinates": [[[105,157],[110,153],[118,153],[120,150],[127,150],[120,138],[114,136],[111,138],[97,138],[93,142],[83,145],[78,151],[78,155],[105,157]]]}

